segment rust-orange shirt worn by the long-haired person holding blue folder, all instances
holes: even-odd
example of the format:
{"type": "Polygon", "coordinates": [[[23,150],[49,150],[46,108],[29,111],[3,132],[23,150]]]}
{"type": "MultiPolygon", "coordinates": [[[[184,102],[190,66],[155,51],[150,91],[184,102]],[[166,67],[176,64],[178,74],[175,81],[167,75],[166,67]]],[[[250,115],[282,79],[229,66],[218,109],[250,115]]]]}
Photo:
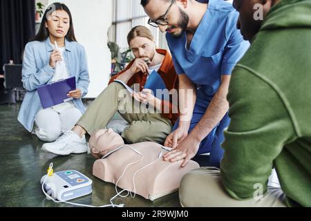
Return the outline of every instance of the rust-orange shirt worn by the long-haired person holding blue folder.
{"type": "MultiPolygon", "coordinates": [[[[162,65],[158,70],[160,77],[162,77],[169,91],[171,91],[172,89],[178,90],[178,75],[176,74],[175,68],[173,66],[173,60],[171,59],[171,55],[169,54],[169,52],[167,52],[167,50],[164,49],[156,49],[156,51],[161,55],[165,55],[162,65]]],[[[130,62],[130,64],[125,68],[125,70],[122,70],[117,75],[111,77],[109,84],[111,84],[117,77],[122,75],[126,70],[131,68],[134,61],[135,59],[133,59],[133,61],[130,62]]],[[[144,73],[139,71],[138,73],[135,73],[133,77],[131,77],[131,79],[129,79],[127,85],[132,86],[133,84],[140,84],[140,91],[142,91],[142,89],[144,88],[144,84],[146,84],[146,81],[147,75],[144,75],[144,73]]],[[[167,104],[167,101],[162,100],[162,116],[168,118],[172,124],[175,124],[176,120],[178,119],[178,113],[173,113],[173,104],[171,102],[168,103],[169,103],[169,113],[163,113],[164,104],[167,104]]],[[[176,109],[176,107],[174,109],[176,109]]]]}

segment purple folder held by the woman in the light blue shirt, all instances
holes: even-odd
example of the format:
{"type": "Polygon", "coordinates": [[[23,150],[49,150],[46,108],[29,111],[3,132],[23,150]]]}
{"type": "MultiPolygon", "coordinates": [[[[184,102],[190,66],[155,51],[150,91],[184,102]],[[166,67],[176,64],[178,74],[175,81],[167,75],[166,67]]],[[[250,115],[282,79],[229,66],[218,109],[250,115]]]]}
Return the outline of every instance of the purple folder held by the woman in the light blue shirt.
{"type": "Polygon", "coordinates": [[[72,100],[73,98],[68,97],[67,94],[70,90],[75,90],[75,88],[75,77],[40,86],[37,91],[42,108],[49,108],[72,100]]]}

